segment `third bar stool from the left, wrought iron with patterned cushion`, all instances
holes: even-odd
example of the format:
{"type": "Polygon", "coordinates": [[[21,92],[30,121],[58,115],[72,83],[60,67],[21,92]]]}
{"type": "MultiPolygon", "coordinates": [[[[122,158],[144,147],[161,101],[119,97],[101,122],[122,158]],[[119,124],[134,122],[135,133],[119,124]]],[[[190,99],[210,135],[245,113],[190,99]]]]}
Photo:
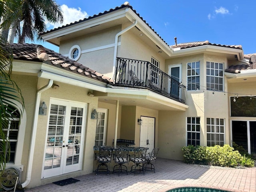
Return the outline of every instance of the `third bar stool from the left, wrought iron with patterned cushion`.
{"type": "Polygon", "coordinates": [[[145,174],[143,164],[146,158],[147,148],[139,147],[135,148],[132,155],[129,155],[129,161],[132,161],[134,165],[131,167],[131,173],[143,173],[145,174]]]}

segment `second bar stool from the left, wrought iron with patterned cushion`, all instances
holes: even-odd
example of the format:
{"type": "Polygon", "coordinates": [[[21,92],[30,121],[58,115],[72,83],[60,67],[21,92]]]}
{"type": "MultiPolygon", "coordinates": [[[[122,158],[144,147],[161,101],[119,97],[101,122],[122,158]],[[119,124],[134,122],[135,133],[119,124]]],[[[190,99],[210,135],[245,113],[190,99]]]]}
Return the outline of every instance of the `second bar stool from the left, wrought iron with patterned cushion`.
{"type": "Polygon", "coordinates": [[[115,161],[116,165],[113,168],[113,173],[118,173],[118,176],[120,175],[120,173],[125,172],[128,175],[127,167],[124,165],[125,163],[128,163],[128,153],[129,150],[126,150],[124,148],[115,150],[113,160],[115,161]]]}

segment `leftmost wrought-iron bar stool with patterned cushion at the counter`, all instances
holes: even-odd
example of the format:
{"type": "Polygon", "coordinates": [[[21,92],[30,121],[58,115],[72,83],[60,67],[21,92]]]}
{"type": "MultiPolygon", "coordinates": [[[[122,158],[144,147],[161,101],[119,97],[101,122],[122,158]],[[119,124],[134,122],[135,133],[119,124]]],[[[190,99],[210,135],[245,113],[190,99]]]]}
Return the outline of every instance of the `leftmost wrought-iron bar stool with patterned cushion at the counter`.
{"type": "Polygon", "coordinates": [[[102,147],[100,148],[98,153],[97,152],[95,153],[94,160],[97,160],[99,163],[97,169],[95,170],[96,175],[98,175],[98,173],[106,173],[108,175],[110,171],[108,169],[107,163],[111,162],[112,153],[113,153],[112,147],[102,147]]]}

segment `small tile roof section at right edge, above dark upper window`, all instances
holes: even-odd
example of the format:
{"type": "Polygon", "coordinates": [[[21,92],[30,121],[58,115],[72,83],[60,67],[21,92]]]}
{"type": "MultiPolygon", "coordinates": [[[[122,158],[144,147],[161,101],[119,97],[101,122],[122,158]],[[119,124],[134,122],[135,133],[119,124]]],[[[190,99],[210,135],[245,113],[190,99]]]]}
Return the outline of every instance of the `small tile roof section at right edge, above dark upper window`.
{"type": "Polygon", "coordinates": [[[241,65],[231,65],[229,66],[225,72],[228,73],[234,73],[234,74],[238,74],[240,73],[242,70],[252,70],[252,69],[256,69],[256,54],[248,54],[248,55],[244,55],[245,58],[250,58],[250,61],[248,64],[241,64],[241,65]]]}

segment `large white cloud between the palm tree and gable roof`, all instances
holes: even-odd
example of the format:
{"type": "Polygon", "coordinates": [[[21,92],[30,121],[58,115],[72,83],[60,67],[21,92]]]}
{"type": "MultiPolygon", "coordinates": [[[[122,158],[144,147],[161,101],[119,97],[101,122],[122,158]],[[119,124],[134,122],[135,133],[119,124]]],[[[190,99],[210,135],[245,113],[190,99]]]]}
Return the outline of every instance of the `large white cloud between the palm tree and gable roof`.
{"type": "Polygon", "coordinates": [[[50,23],[47,22],[47,28],[58,28],[62,25],[66,25],[66,24],[70,24],[73,23],[75,21],[79,21],[80,19],[84,19],[84,18],[88,18],[88,14],[85,11],[82,11],[81,8],[70,8],[67,5],[63,4],[62,6],[60,6],[63,12],[63,23],[50,23]]]}

